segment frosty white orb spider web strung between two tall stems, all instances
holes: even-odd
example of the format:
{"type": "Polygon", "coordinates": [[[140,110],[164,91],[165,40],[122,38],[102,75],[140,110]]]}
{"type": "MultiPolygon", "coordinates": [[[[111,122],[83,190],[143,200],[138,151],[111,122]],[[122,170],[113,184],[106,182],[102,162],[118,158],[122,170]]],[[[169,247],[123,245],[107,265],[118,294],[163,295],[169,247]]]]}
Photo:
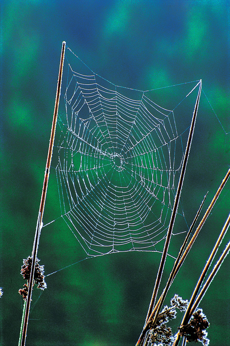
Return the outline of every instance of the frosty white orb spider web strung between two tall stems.
{"type": "MultiPolygon", "coordinates": [[[[58,119],[56,144],[61,217],[89,256],[160,251],[187,128],[178,133],[174,110],[153,102],[149,91],[122,88],[88,71],[80,74],[68,63],[64,92],[62,84],[65,115],[58,119]]],[[[184,218],[182,207],[178,213],[184,218]]]]}

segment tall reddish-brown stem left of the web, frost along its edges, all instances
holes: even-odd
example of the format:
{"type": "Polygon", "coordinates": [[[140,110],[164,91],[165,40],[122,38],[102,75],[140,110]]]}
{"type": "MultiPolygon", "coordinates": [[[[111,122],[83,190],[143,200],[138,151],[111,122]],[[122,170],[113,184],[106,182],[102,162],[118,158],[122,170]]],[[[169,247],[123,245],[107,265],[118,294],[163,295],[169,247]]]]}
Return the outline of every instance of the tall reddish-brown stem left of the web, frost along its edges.
{"type": "Polygon", "coordinates": [[[34,243],[33,243],[32,265],[31,265],[31,273],[30,273],[30,280],[29,280],[28,296],[26,301],[26,311],[25,311],[24,322],[23,322],[21,346],[24,346],[26,343],[26,332],[27,332],[27,325],[28,325],[28,318],[29,318],[29,311],[30,311],[30,301],[31,301],[31,295],[32,295],[32,288],[33,288],[34,269],[35,269],[35,263],[37,258],[40,231],[42,228],[42,217],[43,217],[44,205],[46,201],[46,193],[47,193],[47,186],[48,186],[49,172],[50,172],[50,163],[51,163],[51,157],[53,152],[53,142],[54,142],[54,136],[55,136],[55,130],[56,130],[56,124],[57,124],[57,117],[58,117],[58,106],[59,106],[59,99],[60,99],[60,93],[61,93],[61,79],[62,79],[65,48],[66,48],[66,42],[62,42],[58,85],[57,85],[56,100],[55,100],[55,106],[54,106],[54,112],[53,112],[53,122],[52,122],[52,129],[51,129],[51,135],[50,135],[50,144],[49,144],[49,150],[48,150],[48,156],[47,156],[43,189],[41,194],[40,208],[38,213],[38,222],[37,222],[36,233],[34,236],[34,243]]]}

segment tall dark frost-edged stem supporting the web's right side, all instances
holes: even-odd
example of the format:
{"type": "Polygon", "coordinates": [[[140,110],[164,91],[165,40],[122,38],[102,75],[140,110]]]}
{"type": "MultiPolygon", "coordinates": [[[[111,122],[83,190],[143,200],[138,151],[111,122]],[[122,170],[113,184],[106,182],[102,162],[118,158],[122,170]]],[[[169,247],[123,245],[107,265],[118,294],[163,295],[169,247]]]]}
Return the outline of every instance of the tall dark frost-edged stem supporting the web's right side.
{"type": "MultiPolygon", "coordinates": [[[[171,239],[171,235],[172,235],[172,229],[173,229],[173,225],[174,225],[174,222],[175,222],[175,219],[176,219],[176,215],[177,215],[177,209],[178,209],[178,204],[179,204],[179,201],[180,201],[180,194],[181,194],[181,189],[182,189],[182,185],[183,185],[184,174],[185,174],[186,166],[187,166],[187,162],[188,162],[188,157],[189,157],[189,152],[190,152],[190,147],[191,147],[191,142],[192,142],[192,137],[193,137],[193,132],[194,132],[194,126],[195,126],[195,123],[196,123],[197,111],[198,111],[198,106],[199,106],[199,101],[200,101],[200,94],[201,94],[201,87],[202,87],[201,80],[200,80],[199,84],[200,84],[199,85],[199,91],[198,91],[197,100],[196,100],[196,104],[195,104],[195,108],[194,108],[194,112],[193,112],[193,116],[192,116],[192,122],[191,122],[191,126],[190,126],[190,131],[189,131],[186,151],[184,153],[184,159],[183,159],[183,163],[182,163],[182,168],[181,168],[181,173],[180,173],[180,179],[179,179],[179,183],[178,183],[177,193],[176,193],[176,197],[175,197],[175,200],[174,200],[172,214],[171,214],[171,218],[170,218],[170,222],[169,222],[168,233],[167,233],[166,241],[164,243],[164,249],[163,249],[163,253],[162,253],[162,256],[161,256],[161,262],[160,262],[160,266],[159,266],[159,270],[158,270],[158,274],[157,274],[157,279],[156,279],[156,282],[155,282],[152,298],[151,298],[151,301],[150,301],[149,310],[148,310],[148,313],[147,313],[147,316],[146,316],[146,323],[147,323],[147,321],[148,321],[148,319],[150,317],[150,314],[152,312],[153,306],[154,306],[155,301],[156,301],[157,292],[158,292],[158,289],[159,289],[159,285],[160,285],[160,281],[161,281],[161,276],[162,276],[163,269],[164,269],[164,264],[166,262],[166,257],[167,257],[167,254],[168,254],[168,248],[169,248],[169,243],[170,243],[170,239],[171,239]]],[[[140,336],[136,346],[140,346],[142,341],[143,341],[143,336],[141,334],[141,336],[140,336]]]]}

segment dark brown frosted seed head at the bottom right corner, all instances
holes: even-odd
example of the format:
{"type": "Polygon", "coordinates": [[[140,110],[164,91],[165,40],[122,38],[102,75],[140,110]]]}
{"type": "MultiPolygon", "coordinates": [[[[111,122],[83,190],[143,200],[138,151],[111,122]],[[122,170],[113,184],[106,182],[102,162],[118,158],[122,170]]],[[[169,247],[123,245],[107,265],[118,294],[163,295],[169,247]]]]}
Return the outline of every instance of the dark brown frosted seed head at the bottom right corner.
{"type": "Polygon", "coordinates": [[[200,341],[204,346],[209,345],[209,339],[207,339],[206,328],[209,327],[209,322],[206,316],[203,314],[202,309],[197,309],[193,313],[191,321],[182,326],[179,329],[180,335],[187,338],[187,342],[200,341]]]}

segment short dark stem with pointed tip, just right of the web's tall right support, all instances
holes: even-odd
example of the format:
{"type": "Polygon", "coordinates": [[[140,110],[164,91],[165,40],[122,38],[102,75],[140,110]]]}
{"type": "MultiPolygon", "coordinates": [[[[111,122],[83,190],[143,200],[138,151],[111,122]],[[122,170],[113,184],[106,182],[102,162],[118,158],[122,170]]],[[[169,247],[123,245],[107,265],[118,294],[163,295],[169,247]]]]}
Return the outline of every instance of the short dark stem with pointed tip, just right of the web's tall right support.
{"type": "MultiPolygon", "coordinates": [[[[207,192],[207,194],[208,194],[208,192],[207,192]]],[[[204,196],[204,199],[203,199],[203,201],[202,201],[202,203],[201,203],[201,205],[200,205],[200,207],[199,207],[199,210],[198,210],[198,212],[197,212],[197,214],[196,214],[196,216],[195,216],[195,218],[194,218],[194,220],[193,220],[193,222],[192,222],[192,225],[191,225],[191,227],[190,227],[190,229],[189,229],[189,231],[188,231],[188,234],[186,235],[186,238],[184,239],[184,243],[183,243],[183,245],[181,246],[181,249],[180,249],[180,252],[179,252],[179,254],[178,254],[178,256],[177,256],[176,261],[174,262],[174,265],[173,265],[172,271],[171,271],[171,273],[170,273],[170,275],[169,275],[169,279],[168,279],[168,282],[167,282],[167,284],[166,284],[166,287],[164,288],[163,293],[161,294],[161,296],[160,296],[158,302],[156,303],[156,305],[155,305],[155,307],[154,307],[154,309],[153,309],[153,311],[152,311],[152,313],[151,313],[151,315],[150,315],[150,317],[149,317],[149,319],[148,319],[146,325],[144,326],[144,328],[143,328],[143,330],[142,330],[141,337],[142,337],[142,335],[145,335],[145,334],[146,334],[147,330],[149,329],[149,321],[152,320],[153,317],[154,317],[154,320],[153,320],[153,322],[152,322],[152,325],[154,325],[154,324],[156,323],[156,320],[157,320],[157,318],[158,318],[160,309],[162,308],[162,305],[163,305],[164,299],[165,299],[165,297],[166,297],[166,295],[167,295],[167,293],[168,293],[168,290],[169,290],[169,288],[170,288],[170,286],[171,286],[173,280],[174,280],[175,277],[176,277],[176,274],[178,273],[178,271],[179,271],[179,269],[180,269],[180,267],[181,267],[181,265],[182,265],[182,263],[180,263],[180,266],[178,266],[178,263],[179,263],[179,261],[180,261],[180,259],[181,259],[181,256],[182,256],[183,251],[184,251],[184,248],[185,248],[185,246],[186,246],[186,244],[187,244],[187,242],[188,242],[188,239],[189,239],[189,237],[190,237],[190,235],[191,235],[191,232],[192,232],[192,230],[193,230],[193,227],[194,227],[194,225],[196,224],[196,221],[197,221],[197,219],[198,219],[198,217],[199,217],[199,215],[200,215],[200,212],[201,212],[201,209],[202,209],[202,207],[203,207],[203,204],[204,204],[204,202],[205,202],[205,200],[206,200],[207,194],[204,196]]],[[[141,338],[141,337],[140,337],[140,338],[141,338]]],[[[142,344],[143,344],[143,343],[142,343],[142,344]]],[[[141,345],[141,344],[140,344],[140,345],[141,345]]]]}

